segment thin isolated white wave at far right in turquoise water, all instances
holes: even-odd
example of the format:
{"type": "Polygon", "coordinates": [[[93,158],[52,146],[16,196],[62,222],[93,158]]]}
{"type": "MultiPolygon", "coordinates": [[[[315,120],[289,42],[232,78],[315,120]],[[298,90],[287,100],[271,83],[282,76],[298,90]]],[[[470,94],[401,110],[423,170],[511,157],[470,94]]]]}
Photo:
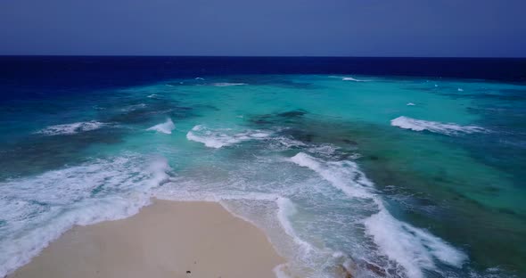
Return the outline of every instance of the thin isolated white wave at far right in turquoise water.
{"type": "Polygon", "coordinates": [[[488,130],[482,127],[474,126],[459,126],[454,123],[440,123],[435,121],[428,121],[423,119],[412,119],[401,116],[397,119],[391,119],[390,125],[393,127],[400,127],[414,131],[431,131],[442,135],[459,135],[459,134],[473,134],[483,133],[488,130]]]}

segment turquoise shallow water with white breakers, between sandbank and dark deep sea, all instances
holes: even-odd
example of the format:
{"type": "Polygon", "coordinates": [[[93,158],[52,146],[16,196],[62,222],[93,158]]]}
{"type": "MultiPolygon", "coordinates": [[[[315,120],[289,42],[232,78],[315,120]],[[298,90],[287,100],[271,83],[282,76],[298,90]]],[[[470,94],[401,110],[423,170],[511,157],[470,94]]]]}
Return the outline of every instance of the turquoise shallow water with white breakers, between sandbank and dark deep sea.
{"type": "Polygon", "coordinates": [[[220,201],[289,276],[526,275],[523,85],[244,75],[2,105],[0,276],[152,196],[220,201]]]}

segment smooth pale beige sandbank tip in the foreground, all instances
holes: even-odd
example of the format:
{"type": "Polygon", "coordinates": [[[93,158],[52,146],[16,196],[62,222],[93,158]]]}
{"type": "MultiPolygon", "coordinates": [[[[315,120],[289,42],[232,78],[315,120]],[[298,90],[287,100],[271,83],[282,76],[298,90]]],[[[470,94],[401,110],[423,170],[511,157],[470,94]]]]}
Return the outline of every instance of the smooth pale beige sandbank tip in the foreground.
{"type": "Polygon", "coordinates": [[[258,278],[283,263],[264,233],[218,203],[154,200],[136,216],[74,227],[8,277],[258,278]]]}

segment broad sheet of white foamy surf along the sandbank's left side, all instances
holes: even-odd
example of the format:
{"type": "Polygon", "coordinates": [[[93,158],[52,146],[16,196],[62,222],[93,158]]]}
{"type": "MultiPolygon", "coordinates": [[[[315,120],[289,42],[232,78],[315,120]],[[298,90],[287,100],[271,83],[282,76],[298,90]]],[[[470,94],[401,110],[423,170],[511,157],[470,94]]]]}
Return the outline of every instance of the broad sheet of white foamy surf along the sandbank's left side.
{"type": "Polygon", "coordinates": [[[168,171],[166,159],[126,155],[0,183],[0,277],[73,225],[136,214],[168,171]]]}

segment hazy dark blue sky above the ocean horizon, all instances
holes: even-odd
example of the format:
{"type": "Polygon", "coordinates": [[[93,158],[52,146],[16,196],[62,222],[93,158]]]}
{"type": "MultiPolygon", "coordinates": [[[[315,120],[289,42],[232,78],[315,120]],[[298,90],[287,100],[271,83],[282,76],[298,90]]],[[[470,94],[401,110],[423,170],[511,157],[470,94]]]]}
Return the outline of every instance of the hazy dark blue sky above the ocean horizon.
{"type": "Polygon", "coordinates": [[[525,11],[525,0],[0,0],[0,54],[526,57],[525,11]]]}

